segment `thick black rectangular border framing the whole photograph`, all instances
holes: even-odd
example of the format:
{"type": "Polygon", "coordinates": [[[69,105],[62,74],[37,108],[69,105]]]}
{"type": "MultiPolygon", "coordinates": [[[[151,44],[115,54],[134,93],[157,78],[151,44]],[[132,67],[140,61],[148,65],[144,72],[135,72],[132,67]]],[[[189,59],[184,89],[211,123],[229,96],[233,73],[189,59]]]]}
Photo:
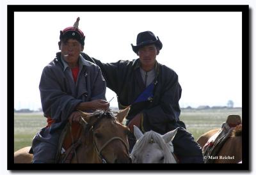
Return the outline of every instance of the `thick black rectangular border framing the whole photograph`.
{"type": "MultiPolygon", "coordinates": [[[[63,170],[86,170],[92,172],[102,172],[103,170],[110,171],[148,171],[164,172],[164,171],[234,171],[251,169],[252,161],[249,160],[250,149],[250,70],[251,54],[250,54],[250,38],[251,31],[250,13],[248,5],[7,5],[8,11],[8,170],[59,170],[58,172],[67,172],[63,170]],[[14,13],[18,11],[241,11],[242,13],[242,66],[243,66],[243,164],[131,164],[131,165],[116,165],[116,164],[13,164],[14,152],[14,13]],[[249,66],[250,65],[250,66],[249,66]],[[250,163],[250,164],[249,164],[250,163]]],[[[134,19],[136,20],[136,19],[134,19]]],[[[161,19],[159,19],[161,20],[161,19]]],[[[29,26],[28,26],[29,29],[29,26]]],[[[36,56],[35,56],[36,59],[36,56]]],[[[250,151],[251,153],[251,151],[250,151]]],[[[24,171],[22,171],[24,172],[24,171]]],[[[77,171],[76,171],[77,172],[77,171]]]]}

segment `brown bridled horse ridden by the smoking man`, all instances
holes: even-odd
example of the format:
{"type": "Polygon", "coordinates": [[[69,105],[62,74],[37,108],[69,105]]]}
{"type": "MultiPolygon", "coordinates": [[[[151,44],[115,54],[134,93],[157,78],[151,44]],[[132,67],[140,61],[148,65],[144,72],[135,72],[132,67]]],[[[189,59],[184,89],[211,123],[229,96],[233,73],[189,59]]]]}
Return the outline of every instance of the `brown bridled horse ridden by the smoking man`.
{"type": "MultiPolygon", "coordinates": [[[[118,114],[99,110],[93,114],[81,112],[81,134],[71,163],[132,163],[129,156],[127,133],[129,129],[122,124],[129,108],[118,114]]],[[[14,153],[14,163],[31,163],[33,155],[30,147],[14,153]]],[[[68,151],[68,150],[67,150],[68,151]]]]}

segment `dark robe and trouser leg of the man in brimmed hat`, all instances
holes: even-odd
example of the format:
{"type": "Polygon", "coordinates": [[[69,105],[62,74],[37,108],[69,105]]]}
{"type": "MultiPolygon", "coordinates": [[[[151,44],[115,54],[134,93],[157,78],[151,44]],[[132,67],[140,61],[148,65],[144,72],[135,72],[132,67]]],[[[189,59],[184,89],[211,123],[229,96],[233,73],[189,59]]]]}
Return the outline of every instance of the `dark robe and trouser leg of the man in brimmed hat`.
{"type": "MultiPolygon", "coordinates": [[[[142,112],[143,132],[154,130],[163,135],[179,127],[173,139],[174,153],[179,156],[181,163],[203,163],[202,150],[199,144],[195,142],[191,133],[186,131],[185,124],[179,119],[179,99],[182,89],[177,73],[156,62],[153,98],[145,102],[134,103],[146,88],[140,74],[139,59],[101,63],[98,59],[89,57],[84,53],[81,54],[86,60],[100,66],[107,87],[117,95],[119,109],[131,105],[126,125],[136,114],[142,112]]],[[[135,142],[134,135],[130,135],[130,151],[135,142]]]]}

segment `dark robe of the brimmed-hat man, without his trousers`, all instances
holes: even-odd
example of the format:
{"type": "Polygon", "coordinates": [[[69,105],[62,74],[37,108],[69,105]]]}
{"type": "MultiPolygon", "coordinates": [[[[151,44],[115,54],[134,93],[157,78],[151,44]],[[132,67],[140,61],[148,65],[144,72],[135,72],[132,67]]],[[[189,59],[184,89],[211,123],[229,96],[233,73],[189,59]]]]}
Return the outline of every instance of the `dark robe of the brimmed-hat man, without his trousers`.
{"type": "MultiPolygon", "coordinates": [[[[114,91],[118,98],[118,106],[124,109],[131,105],[127,119],[131,120],[136,114],[143,113],[143,128],[145,132],[154,130],[166,133],[176,128],[179,122],[179,99],[181,87],[177,74],[167,66],[156,63],[156,79],[154,80],[154,96],[146,102],[134,103],[136,98],[145,90],[140,74],[140,61],[118,61],[116,63],[101,63],[99,60],[83,54],[85,59],[100,66],[106,79],[107,87],[114,91]]],[[[185,125],[179,122],[182,127],[185,125]]]]}

